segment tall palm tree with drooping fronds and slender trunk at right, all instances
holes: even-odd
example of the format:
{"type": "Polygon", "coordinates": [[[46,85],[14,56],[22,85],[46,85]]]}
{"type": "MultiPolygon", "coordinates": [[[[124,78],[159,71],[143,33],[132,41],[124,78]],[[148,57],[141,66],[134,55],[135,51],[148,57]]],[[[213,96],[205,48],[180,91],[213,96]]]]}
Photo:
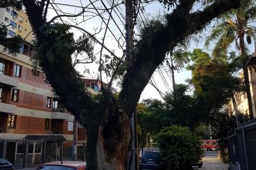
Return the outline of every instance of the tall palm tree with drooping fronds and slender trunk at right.
{"type": "Polygon", "coordinates": [[[255,19],[255,1],[241,0],[240,8],[233,9],[229,13],[224,14],[221,18],[221,23],[206,38],[206,46],[209,46],[211,42],[216,42],[212,51],[214,57],[225,56],[233,42],[235,42],[236,48],[240,50],[250,118],[253,118],[253,111],[247,67],[248,50],[245,44],[245,37],[248,44],[252,43],[252,38],[255,38],[255,29],[252,26],[255,19]]]}

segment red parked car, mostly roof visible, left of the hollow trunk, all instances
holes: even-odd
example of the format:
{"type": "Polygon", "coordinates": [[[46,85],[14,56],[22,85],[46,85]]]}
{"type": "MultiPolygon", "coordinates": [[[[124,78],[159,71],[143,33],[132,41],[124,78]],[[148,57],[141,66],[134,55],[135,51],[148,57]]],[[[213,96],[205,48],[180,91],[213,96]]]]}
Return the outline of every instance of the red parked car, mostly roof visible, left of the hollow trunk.
{"type": "Polygon", "coordinates": [[[48,162],[42,164],[37,169],[44,170],[85,170],[86,162],[78,162],[78,161],[56,161],[56,162],[48,162]]]}

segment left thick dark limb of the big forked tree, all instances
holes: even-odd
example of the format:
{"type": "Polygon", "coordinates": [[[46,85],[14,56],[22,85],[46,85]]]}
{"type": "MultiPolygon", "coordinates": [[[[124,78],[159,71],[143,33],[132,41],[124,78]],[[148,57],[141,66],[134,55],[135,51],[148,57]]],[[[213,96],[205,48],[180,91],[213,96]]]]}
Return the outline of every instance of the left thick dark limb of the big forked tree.
{"type": "MultiPolygon", "coordinates": [[[[51,39],[44,34],[47,26],[44,25],[44,16],[42,11],[40,11],[40,6],[31,0],[23,0],[23,4],[37,37],[38,45],[54,43],[54,37],[50,37],[52,38],[51,41],[51,39]]],[[[44,52],[44,49],[42,50],[44,52]]],[[[45,55],[46,54],[47,51],[45,51],[45,55]]],[[[71,62],[66,62],[66,59],[63,58],[61,54],[58,55],[50,56],[52,57],[50,60],[49,57],[42,56],[44,59],[40,60],[40,66],[45,72],[47,81],[50,82],[55,93],[60,97],[67,110],[71,111],[78,120],[81,120],[81,116],[87,119],[89,114],[93,117],[95,103],[93,99],[91,99],[90,94],[86,93],[86,89],[79,78],[78,72],[73,68],[71,62]]]]}

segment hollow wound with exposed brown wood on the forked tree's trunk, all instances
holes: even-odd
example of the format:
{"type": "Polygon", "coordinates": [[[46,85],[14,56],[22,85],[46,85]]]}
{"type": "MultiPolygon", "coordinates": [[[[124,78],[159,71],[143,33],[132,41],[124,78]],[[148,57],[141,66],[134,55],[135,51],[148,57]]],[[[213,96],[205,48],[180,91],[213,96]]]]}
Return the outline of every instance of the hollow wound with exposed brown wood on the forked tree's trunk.
{"type": "Polygon", "coordinates": [[[121,110],[112,112],[98,129],[98,169],[125,170],[129,140],[130,127],[127,115],[121,110]]]}

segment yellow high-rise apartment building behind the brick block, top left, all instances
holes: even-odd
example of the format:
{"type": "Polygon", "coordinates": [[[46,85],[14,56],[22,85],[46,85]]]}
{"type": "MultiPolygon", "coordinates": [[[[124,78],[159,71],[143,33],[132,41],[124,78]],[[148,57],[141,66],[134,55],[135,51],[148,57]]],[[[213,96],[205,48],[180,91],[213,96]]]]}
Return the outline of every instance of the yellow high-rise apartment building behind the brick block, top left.
{"type": "Polygon", "coordinates": [[[30,42],[33,39],[33,32],[25,11],[16,10],[12,7],[0,8],[0,23],[8,26],[8,37],[20,35],[30,42]]]}

